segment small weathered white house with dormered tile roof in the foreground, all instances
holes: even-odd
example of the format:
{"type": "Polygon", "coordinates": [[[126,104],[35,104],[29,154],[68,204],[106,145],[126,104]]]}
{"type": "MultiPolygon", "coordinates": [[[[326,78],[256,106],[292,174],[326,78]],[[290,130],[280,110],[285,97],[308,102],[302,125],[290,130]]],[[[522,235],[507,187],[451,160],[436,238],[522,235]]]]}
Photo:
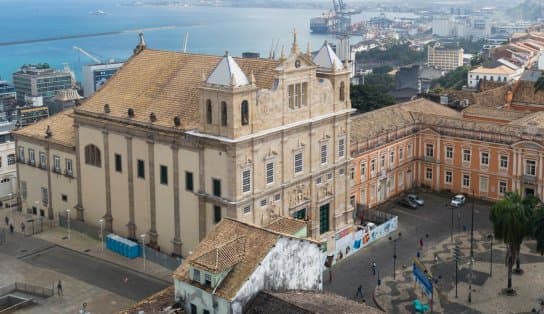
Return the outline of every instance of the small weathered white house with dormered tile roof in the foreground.
{"type": "Polygon", "coordinates": [[[305,222],[282,218],[258,227],[223,219],[174,272],[186,313],[242,313],[261,290],[320,291],[318,242],[290,236],[305,222]]]}

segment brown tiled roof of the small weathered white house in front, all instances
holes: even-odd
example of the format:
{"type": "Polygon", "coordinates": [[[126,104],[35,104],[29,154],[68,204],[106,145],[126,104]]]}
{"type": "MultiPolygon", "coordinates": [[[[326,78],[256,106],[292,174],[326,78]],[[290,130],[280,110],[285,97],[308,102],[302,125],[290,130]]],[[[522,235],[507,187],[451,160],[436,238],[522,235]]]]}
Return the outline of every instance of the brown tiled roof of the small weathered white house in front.
{"type": "MultiPolygon", "coordinates": [[[[200,285],[189,277],[189,266],[202,263],[213,264],[214,258],[211,256],[217,249],[225,247],[234,240],[243,238],[244,241],[236,241],[235,245],[230,246],[228,254],[232,253],[232,248],[238,247],[240,251],[245,252],[243,256],[232,266],[228,275],[216,287],[215,294],[227,300],[232,300],[244,283],[253,274],[259,263],[266,257],[281,237],[290,237],[290,235],[274,232],[255,225],[246,224],[237,220],[223,218],[213,230],[196,246],[193,254],[187,257],[183,264],[174,272],[174,278],[187,282],[202,290],[211,292],[213,289],[208,286],[200,285]],[[243,248],[240,246],[243,245],[243,248]],[[209,254],[209,256],[208,256],[209,254]],[[203,258],[203,255],[207,255],[203,258]]],[[[313,240],[304,239],[318,245],[313,240]]],[[[229,258],[233,261],[232,258],[229,258]]],[[[228,264],[228,263],[227,263],[228,264]]]]}

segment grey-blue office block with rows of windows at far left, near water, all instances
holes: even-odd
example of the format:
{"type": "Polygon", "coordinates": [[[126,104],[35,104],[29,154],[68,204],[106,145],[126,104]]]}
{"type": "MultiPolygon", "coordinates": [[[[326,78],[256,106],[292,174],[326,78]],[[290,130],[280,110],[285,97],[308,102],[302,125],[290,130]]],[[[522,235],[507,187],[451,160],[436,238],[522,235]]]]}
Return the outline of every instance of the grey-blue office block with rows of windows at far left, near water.
{"type": "Polygon", "coordinates": [[[13,73],[17,102],[25,104],[25,97],[54,97],[59,90],[72,88],[72,72],[58,71],[48,64],[24,65],[13,73]]]}

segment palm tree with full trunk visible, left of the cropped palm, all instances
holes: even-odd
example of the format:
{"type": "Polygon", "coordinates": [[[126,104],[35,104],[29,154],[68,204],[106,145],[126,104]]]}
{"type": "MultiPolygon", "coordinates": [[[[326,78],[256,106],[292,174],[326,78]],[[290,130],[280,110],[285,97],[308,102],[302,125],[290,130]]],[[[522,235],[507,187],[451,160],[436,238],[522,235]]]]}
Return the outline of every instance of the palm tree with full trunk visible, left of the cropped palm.
{"type": "Polygon", "coordinates": [[[506,266],[508,267],[507,294],[515,294],[512,289],[512,268],[519,256],[521,243],[527,235],[528,216],[522,197],[514,192],[506,193],[504,199],[493,205],[489,215],[493,223],[495,237],[507,246],[506,266]]]}

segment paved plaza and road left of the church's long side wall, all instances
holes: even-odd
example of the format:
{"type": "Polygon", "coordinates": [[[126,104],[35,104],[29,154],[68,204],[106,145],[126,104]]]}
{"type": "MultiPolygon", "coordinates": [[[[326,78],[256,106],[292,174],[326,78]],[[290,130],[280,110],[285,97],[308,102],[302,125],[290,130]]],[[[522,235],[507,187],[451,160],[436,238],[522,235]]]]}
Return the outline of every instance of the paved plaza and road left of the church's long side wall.
{"type": "MultiPolygon", "coordinates": [[[[0,210],[2,220],[19,226],[26,215],[0,210]]],[[[3,223],[3,222],[2,222],[3,223]]],[[[20,227],[0,244],[0,287],[15,282],[55,288],[62,281],[63,296],[38,300],[18,313],[77,313],[83,303],[91,313],[112,313],[126,308],[172,284],[171,271],[141,258],[128,259],[100,241],[64,228],[45,226],[43,232],[24,236],[20,227]]]]}

